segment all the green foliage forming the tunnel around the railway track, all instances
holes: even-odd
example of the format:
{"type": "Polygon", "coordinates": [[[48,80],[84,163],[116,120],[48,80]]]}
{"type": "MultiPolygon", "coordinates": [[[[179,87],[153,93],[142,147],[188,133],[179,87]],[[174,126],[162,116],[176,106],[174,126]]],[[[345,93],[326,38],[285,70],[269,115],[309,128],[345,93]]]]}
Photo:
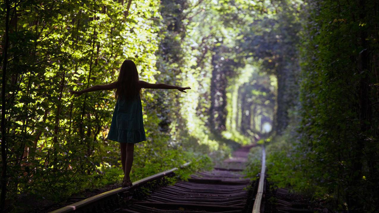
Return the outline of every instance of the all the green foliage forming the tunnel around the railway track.
{"type": "MultiPolygon", "coordinates": [[[[141,80],[192,88],[143,90],[147,141],[135,147],[133,180],[192,161],[177,173],[186,179],[210,168],[210,157],[221,162],[254,142],[269,123],[269,181],[375,210],[374,0],[135,0],[128,11],[111,0],[10,3],[1,103],[8,200],[54,201],[120,182],[119,144],[106,140],[112,93],[74,98],[68,89],[111,83],[132,59],[141,80]]],[[[246,175],[259,165],[253,148],[246,175]]]]}

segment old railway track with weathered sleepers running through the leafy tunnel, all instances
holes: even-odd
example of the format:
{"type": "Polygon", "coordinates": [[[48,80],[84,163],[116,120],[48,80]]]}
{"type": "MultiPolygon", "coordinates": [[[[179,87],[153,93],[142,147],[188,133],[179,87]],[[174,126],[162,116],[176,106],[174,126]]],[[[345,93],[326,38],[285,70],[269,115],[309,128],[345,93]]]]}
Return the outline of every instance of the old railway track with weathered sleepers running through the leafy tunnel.
{"type": "Polygon", "coordinates": [[[260,213],[264,190],[265,152],[263,147],[263,175],[259,182],[251,182],[241,174],[250,148],[241,147],[234,152],[232,159],[224,162],[226,166],[223,168],[197,172],[192,174],[188,181],[160,187],[148,196],[141,193],[141,186],[172,176],[175,171],[185,168],[190,163],[138,180],[132,187],[107,191],[51,213],[260,213]],[[228,168],[229,163],[232,163],[233,168],[228,168]]]}

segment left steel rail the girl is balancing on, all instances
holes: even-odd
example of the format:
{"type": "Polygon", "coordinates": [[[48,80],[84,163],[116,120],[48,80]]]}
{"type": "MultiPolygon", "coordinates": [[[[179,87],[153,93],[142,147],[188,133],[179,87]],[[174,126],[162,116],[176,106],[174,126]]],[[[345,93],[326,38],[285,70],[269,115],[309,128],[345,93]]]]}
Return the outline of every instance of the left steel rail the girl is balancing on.
{"type": "MultiPolygon", "coordinates": [[[[180,166],[180,168],[185,168],[189,164],[191,164],[191,162],[187,162],[187,163],[183,164],[182,166],[180,166]]],[[[54,210],[54,211],[50,211],[50,213],[66,213],[66,212],[76,211],[76,210],[78,210],[80,208],[89,206],[91,204],[95,204],[99,200],[106,199],[108,197],[111,197],[111,196],[119,194],[119,193],[124,193],[125,191],[129,191],[131,189],[137,188],[138,186],[141,186],[144,183],[147,183],[147,182],[150,182],[150,181],[153,181],[153,180],[157,180],[157,179],[159,179],[161,177],[164,177],[166,175],[172,174],[174,171],[177,171],[177,170],[178,170],[178,168],[175,167],[175,168],[172,168],[172,169],[169,169],[169,170],[166,170],[166,171],[163,171],[163,172],[151,175],[149,177],[145,177],[144,179],[137,180],[136,182],[133,182],[132,186],[124,187],[124,188],[120,187],[120,188],[117,188],[117,189],[114,189],[114,190],[106,191],[106,192],[103,192],[101,194],[97,194],[95,196],[88,197],[88,198],[86,198],[84,200],[81,200],[79,202],[76,202],[74,204],[67,205],[65,207],[59,208],[59,209],[54,210]]]]}

